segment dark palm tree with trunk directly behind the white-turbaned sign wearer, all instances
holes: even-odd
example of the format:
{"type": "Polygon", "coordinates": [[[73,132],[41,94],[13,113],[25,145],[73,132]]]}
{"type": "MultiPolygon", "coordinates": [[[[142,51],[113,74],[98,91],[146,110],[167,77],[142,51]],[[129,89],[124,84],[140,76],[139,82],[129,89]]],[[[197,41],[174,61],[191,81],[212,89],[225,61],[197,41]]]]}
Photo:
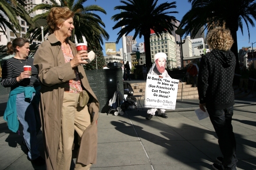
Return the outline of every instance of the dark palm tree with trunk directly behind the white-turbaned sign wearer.
{"type": "Polygon", "coordinates": [[[167,11],[171,8],[176,8],[176,2],[161,3],[157,5],[158,0],[127,0],[120,1],[124,6],[114,7],[115,10],[123,10],[119,14],[115,14],[111,19],[118,21],[113,29],[122,28],[118,33],[117,41],[123,35],[127,36],[131,31],[135,30],[133,39],[139,35],[139,38],[144,37],[146,65],[149,66],[151,62],[150,55],[150,29],[155,31],[158,37],[161,34],[169,33],[174,30],[174,24],[171,21],[177,21],[175,17],[168,14],[178,13],[177,11],[167,11]]]}

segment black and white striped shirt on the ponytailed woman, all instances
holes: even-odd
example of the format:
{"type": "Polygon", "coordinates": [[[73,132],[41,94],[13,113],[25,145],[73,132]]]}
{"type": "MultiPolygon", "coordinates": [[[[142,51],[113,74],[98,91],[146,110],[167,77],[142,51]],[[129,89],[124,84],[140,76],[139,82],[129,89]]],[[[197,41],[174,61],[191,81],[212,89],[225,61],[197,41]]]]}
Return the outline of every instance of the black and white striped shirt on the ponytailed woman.
{"type": "Polygon", "coordinates": [[[38,71],[36,67],[33,65],[33,58],[27,58],[19,60],[15,58],[7,59],[4,62],[2,68],[2,86],[4,87],[37,87],[39,86],[38,80],[38,71]],[[21,82],[16,80],[16,77],[20,76],[21,72],[24,71],[23,66],[31,66],[32,67],[32,75],[31,78],[23,79],[21,82]]]}

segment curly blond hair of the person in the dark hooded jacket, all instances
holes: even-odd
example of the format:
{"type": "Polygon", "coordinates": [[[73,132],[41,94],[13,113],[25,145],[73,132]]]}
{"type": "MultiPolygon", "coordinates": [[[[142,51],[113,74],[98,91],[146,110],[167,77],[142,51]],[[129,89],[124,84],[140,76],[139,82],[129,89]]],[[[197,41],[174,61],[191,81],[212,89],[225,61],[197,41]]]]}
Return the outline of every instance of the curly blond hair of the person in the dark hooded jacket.
{"type": "Polygon", "coordinates": [[[228,51],[234,43],[229,29],[216,27],[207,34],[207,43],[213,49],[228,51]]]}

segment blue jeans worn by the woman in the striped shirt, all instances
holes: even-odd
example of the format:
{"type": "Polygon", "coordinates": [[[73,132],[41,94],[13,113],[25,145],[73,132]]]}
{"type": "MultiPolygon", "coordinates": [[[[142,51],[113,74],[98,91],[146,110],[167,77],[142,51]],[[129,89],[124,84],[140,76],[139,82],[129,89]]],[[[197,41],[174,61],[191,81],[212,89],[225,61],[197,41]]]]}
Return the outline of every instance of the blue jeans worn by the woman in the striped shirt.
{"type": "Polygon", "coordinates": [[[23,137],[28,146],[28,157],[31,160],[35,160],[40,156],[36,135],[41,128],[39,105],[33,103],[33,97],[31,100],[25,99],[24,93],[17,94],[16,97],[17,115],[23,126],[23,137]],[[35,112],[35,109],[38,112],[35,112]]]}

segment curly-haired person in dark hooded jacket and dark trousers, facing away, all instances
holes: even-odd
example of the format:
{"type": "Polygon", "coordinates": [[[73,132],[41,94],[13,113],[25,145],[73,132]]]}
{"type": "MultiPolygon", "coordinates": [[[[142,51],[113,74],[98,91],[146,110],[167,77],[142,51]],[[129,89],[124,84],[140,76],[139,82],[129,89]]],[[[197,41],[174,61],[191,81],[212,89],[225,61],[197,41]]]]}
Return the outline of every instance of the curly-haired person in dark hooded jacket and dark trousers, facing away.
{"type": "Polygon", "coordinates": [[[236,170],[236,141],[231,124],[233,116],[235,54],[230,51],[234,43],[228,29],[214,28],[206,36],[213,49],[201,58],[198,75],[199,108],[206,107],[210,121],[218,136],[220,163],[213,163],[214,170],[236,170]]]}

